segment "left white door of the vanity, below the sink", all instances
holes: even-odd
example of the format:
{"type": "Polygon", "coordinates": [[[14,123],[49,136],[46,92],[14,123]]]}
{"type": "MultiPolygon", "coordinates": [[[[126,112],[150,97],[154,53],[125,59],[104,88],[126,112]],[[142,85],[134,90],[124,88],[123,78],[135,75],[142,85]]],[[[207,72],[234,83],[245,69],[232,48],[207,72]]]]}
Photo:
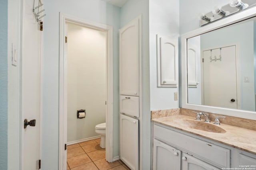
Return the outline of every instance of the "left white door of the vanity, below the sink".
{"type": "Polygon", "coordinates": [[[180,150],[154,139],[153,170],[180,170],[180,157],[180,150]]]}

